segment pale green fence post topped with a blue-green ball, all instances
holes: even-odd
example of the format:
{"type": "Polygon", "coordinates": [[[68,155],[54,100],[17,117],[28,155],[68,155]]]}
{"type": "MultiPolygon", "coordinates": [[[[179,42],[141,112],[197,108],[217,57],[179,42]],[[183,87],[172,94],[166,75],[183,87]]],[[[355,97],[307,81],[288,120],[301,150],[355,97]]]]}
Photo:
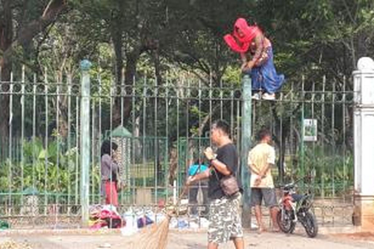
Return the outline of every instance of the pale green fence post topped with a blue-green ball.
{"type": "Polygon", "coordinates": [[[80,100],[80,204],[82,206],[82,226],[88,226],[89,167],[90,167],[90,76],[91,62],[82,60],[81,100],[80,100]]]}

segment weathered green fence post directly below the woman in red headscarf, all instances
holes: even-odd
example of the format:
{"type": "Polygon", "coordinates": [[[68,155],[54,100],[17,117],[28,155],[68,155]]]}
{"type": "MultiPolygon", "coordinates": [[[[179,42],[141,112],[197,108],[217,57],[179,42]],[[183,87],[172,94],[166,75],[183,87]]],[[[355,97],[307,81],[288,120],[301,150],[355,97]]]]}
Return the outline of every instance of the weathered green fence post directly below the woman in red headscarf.
{"type": "Polygon", "coordinates": [[[242,223],[243,227],[251,228],[251,206],[250,196],[251,188],[249,187],[250,172],[247,167],[248,151],[251,146],[251,124],[252,124],[252,81],[249,74],[244,74],[242,77],[242,148],[240,153],[240,169],[243,186],[243,212],[242,223]]]}

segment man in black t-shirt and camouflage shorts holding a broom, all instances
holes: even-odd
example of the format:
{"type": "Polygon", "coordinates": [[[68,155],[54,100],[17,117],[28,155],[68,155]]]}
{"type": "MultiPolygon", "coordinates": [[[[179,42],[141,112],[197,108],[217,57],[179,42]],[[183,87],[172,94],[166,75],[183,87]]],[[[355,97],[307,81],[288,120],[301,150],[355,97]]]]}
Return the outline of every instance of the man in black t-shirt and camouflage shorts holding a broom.
{"type": "MultiPolygon", "coordinates": [[[[241,193],[227,196],[220,185],[220,180],[227,175],[237,175],[237,151],[229,137],[230,127],[224,120],[213,122],[211,127],[212,143],[217,145],[216,154],[211,147],[204,154],[209,160],[209,170],[189,177],[187,184],[209,178],[208,197],[209,227],[208,249],[216,249],[221,243],[232,239],[236,249],[244,249],[243,229],[241,222],[241,193]]],[[[240,187],[240,186],[239,186],[240,187]]]]}

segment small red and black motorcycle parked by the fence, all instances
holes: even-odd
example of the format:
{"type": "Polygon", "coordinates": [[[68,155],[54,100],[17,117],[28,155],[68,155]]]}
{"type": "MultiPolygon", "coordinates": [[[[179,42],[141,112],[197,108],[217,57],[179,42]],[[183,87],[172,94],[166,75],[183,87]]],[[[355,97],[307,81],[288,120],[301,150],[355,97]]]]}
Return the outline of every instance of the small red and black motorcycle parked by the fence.
{"type": "Polygon", "coordinates": [[[295,183],[286,184],[282,187],[283,196],[279,200],[279,212],[277,222],[284,233],[293,233],[296,222],[300,222],[307,235],[314,238],[318,233],[317,220],[310,211],[313,200],[310,194],[297,194],[295,183]]]}

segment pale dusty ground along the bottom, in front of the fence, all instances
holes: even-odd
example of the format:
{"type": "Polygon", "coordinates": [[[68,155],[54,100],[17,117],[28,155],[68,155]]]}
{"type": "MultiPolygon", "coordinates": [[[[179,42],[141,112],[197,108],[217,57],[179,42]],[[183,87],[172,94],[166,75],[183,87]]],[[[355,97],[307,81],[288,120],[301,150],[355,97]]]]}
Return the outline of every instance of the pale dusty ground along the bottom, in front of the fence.
{"type": "MultiPolygon", "coordinates": [[[[0,249],[20,249],[28,247],[1,247],[4,242],[13,241],[24,243],[32,249],[100,249],[100,248],[137,248],[134,238],[122,236],[119,233],[108,234],[78,234],[64,233],[52,235],[48,233],[9,233],[0,235],[0,249]],[[135,246],[129,246],[134,243],[135,246]],[[106,246],[106,247],[105,247],[106,246]]],[[[168,249],[203,249],[206,248],[207,237],[205,231],[169,231],[168,249]]],[[[245,232],[246,249],[374,249],[373,233],[355,234],[319,234],[309,239],[303,230],[298,229],[295,234],[282,233],[257,234],[256,231],[245,232]]],[[[233,243],[221,245],[220,248],[232,249],[233,243]]]]}

